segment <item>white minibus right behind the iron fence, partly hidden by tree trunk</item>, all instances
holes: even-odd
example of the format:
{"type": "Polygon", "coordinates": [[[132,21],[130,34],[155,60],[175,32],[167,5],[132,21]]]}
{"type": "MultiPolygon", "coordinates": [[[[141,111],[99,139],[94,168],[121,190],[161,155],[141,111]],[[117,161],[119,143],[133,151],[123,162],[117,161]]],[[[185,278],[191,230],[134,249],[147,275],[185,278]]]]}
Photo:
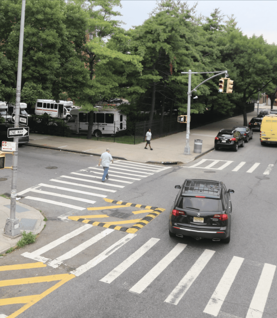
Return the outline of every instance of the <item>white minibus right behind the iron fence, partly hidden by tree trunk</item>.
{"type": "MultiPolygon", "coordinates": [[[[82,109],[71,109],[71,118],[67,126],[77,134],[87,133],[89,126],[89,113],[82,109]]],[[[93,113],[92,135],[101,137],[102,135],[115,135],[118,131],[126,129],[126,115],[120,114],[120,110],[99,107],[93,113]]]]}

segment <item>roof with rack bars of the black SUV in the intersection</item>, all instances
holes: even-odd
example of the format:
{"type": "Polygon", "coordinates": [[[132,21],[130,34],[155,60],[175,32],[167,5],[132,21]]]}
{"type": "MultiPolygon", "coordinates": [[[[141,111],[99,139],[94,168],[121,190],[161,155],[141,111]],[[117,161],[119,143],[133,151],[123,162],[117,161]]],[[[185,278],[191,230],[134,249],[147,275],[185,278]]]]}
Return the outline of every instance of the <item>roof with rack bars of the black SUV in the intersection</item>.
{"type": "Polygon", "coordinates": [[[187,179],[185,180],[182,194],[191,196],[193,194],[209,195],[213,197],[220,197],[221,182],[214,180],[203,179],[187,179]]]}

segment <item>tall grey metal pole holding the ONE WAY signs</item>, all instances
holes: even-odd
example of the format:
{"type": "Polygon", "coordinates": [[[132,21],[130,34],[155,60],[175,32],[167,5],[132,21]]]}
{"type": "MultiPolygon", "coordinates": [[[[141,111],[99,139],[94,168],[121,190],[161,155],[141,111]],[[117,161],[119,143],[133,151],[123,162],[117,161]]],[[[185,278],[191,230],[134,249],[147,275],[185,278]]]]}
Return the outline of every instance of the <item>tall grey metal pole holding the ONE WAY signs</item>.
{"type": "MultiPolygon", "coordinates": [[[[26,4],[26,0],[22,0],[20,35],[19,35],[19,50],[18,50],[17,87],[16,87],[16,103],[15,103],[15,123],[14,123],[14,127],[19,127],[25,4],[26,4]]],[[[6,224],[5,224],[5,234],[6,235],[10,235],[10,236],[16,236],[16,235],[20,234],[19,220],[18,220],[18,218],[15,217],[15,212],[16,212],[16,192],[17,192],[18,137],[14,137],[13,141],[16,142],[16,151],[14,152],[14,155],[12,156],[11,192],[10,192],[10,218],[7,218],[6,224]]]]}

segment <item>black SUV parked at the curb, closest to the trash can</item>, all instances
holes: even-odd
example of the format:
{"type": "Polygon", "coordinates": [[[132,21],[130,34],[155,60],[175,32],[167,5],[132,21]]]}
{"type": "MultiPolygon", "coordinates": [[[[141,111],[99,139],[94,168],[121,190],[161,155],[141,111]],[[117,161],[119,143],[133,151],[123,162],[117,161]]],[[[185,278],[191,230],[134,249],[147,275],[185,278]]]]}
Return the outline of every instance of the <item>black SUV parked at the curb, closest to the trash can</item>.
{"type": "Polygon", "coordinates": [[[214,139],[214,149],[232,148],[238,151],[238,148],[244,147],[244,136],[239,131],[233,129],[221,129],[214,139]]]}

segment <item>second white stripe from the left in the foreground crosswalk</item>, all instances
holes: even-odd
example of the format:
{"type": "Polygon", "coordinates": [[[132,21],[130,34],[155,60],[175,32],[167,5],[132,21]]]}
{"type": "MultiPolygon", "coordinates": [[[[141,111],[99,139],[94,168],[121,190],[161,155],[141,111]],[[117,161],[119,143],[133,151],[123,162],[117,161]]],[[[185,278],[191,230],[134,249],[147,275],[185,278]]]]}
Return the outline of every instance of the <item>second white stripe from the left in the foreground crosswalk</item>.
{"type": "Polygon", "coordinates": [[[59,265],[61,265],[63,263],[64,260],[66,259],[70,259],[71,257],[77,255],[78,253],[84,251],[84,249],[86,249],[87,247],[91,246],[92,244],[98,242],[100,239],[103,239],[105,236],[107,236],[108,234],[110,234],[111,232],[113,232],[113,229],[106,229],[103,232],[98,233],[97,235],[95,235],[94,237],[92,237],[91,239],[85,241],[84,243],[76,246],[75,248],[72,248],[72,250],[70,250],[67,253],[64,253],[63,255],[57,257],[56,259],[52,260],[51,262],[48,263],[49,266],[57,268],[59,265]]]}

